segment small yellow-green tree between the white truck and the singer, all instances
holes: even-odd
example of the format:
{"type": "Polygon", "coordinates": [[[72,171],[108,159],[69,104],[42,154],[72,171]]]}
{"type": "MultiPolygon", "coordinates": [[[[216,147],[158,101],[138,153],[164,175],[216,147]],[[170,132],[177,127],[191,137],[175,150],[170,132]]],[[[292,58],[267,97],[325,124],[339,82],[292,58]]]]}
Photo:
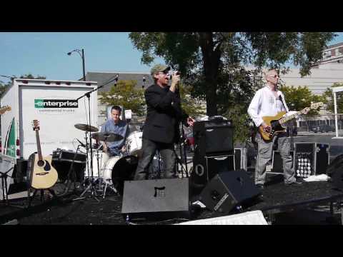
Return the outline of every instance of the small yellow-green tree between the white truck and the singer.
{"type": "Polygon", "coordinates": [[[101,92],[101,104],[120,105],[141,116],[145,112],[144,89],[136,89],[134,80],[121,80],[108,92],[101,92]]]}

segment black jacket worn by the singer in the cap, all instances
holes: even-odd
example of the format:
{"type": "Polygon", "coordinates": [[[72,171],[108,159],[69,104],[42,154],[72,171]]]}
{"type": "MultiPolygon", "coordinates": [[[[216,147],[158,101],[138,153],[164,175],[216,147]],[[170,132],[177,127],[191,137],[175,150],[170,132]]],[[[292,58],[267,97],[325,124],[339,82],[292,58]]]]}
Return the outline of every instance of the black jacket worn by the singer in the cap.
{"type": "Polygon", "coordinates": [[[187,126],[188,114],[181,108],[179,91],[177,89],[174,93],[169,88],[153,84],[144,92],[147,106],[144,138],[161,143],[177,143],[179,122],[187,126]]]}

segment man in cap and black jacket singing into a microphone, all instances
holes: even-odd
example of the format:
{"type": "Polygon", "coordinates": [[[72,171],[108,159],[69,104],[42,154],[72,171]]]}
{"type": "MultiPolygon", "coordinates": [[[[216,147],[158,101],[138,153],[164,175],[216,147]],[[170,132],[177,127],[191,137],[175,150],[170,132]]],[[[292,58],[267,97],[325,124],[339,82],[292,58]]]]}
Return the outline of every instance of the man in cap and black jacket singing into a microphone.
{"type": "Polygon", "coordinates": [[[184,112],[180,104],[178,82],[180,75],[175,72],[172,85],[169,82],[169,66],[156,64],[151,69],[154,84],[144,92],[147,114],[143,129],[142,154],[134,176],[135,180],[144,180],[147,168],[159,149],[165,163],[163,178],[176,178],[174,143],[179,141],[179,121],[185,126],[193,126],[194,119],[184,112]]]}

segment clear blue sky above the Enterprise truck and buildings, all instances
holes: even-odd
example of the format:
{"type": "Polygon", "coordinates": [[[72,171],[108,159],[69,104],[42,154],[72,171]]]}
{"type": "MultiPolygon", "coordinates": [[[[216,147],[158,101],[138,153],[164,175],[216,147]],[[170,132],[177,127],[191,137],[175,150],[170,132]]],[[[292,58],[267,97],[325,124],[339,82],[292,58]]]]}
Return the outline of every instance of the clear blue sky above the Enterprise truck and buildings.
{"type": "MultiPolygon", "coordinates": [[[[343,41],[339,32],[330,44],[343,41]]],[[[86,71],[149,72],[141,64],[141,52],[134,49],[128,32],[0,32],[0,74],[33,74],[51,80],[82,77],[81,57],[74,49],[84,49],[86,71]]],[[[163,63],[156,59],[154,63],[163,63]]],[[[9,79],[0,77],[0,81],[9,79]]]]}

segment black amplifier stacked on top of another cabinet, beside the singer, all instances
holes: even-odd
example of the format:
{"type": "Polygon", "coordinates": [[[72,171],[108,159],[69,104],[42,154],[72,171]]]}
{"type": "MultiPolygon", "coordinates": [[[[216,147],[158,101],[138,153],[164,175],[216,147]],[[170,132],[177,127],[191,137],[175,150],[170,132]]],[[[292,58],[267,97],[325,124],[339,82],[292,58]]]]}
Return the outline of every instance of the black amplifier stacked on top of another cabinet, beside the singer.
{"type": "Polygon", "coordinates": [[[219,156],[234,152],[232,121],[212,120],[194,123],[194,154],[219,156]]]}

